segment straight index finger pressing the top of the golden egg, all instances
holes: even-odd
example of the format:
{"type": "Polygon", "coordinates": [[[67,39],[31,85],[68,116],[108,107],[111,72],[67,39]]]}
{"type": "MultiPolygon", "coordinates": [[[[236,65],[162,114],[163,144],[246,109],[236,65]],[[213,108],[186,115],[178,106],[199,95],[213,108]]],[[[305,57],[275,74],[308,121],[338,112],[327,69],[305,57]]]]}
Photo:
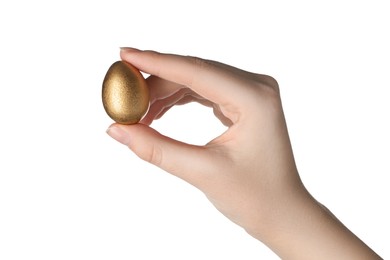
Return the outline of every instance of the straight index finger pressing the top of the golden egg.
{"type": "Polygon", "coordinates": [[[219,105],[245,104],[252,95],[252,73],[197,57],[126,48],[121,58],[139,70],[191,88],[219,105]]]}

